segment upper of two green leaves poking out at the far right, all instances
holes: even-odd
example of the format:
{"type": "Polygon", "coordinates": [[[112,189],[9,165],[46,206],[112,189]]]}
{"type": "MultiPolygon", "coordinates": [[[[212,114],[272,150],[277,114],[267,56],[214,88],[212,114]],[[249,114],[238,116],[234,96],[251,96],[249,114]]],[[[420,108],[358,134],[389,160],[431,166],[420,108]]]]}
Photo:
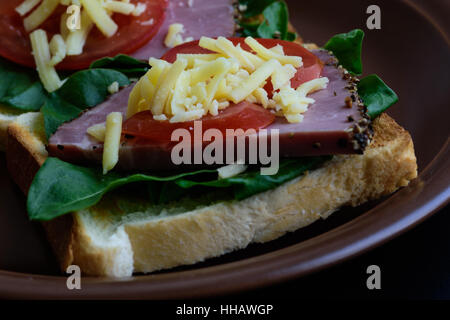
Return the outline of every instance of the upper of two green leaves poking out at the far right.
{"type": "Polygon", "coordinates": [[[324,46],[332,51],[339,63],[355,75],[362,74],[362,41],[364,31],[356,29],[349,33],[335,35],[324,46]]]}

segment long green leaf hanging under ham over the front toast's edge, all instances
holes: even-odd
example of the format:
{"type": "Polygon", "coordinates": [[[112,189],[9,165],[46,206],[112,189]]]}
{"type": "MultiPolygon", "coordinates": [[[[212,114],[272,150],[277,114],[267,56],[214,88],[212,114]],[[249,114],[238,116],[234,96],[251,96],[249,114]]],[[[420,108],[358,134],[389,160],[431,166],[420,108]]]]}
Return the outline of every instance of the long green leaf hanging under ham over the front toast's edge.
{"type": "Polygon", "coordinates": [[[229,188],[236,199],[243,199],[292,180],[327,159],[328,157],[286,160],[281,163],[278,174],[274,176],[261,176],[257,170],[253,170],[233,178],[201,183],[198,180],[217,174],[217,171],[201,170],[168,177],[114,172],[103,175],[98,168],[86,168],[57,158],[48,158],[30,187],[27,209],[30,219],[48,221],[93,206],[107,192],[136,182],[146,182],[151,190],[159,190],[159,199],[165,201],[179,199],[188,189],[196,186],[207,187],[209,191],[229,188]],[[173,186],[179,188],[174,190],[173,186]],[[176,192],[177,190],[180,192],[176,192]]]}

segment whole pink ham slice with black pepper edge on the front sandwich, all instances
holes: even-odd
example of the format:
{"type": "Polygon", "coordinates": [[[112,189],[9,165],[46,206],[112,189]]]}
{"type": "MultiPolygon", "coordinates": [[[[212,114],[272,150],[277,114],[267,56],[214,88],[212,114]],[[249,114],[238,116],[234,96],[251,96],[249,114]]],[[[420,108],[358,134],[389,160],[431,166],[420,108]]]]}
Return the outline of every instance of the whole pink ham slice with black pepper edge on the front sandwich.
{"type": "MultiPolygon", "coordinates": [[[[290,124],[277,118],[266,129],[279,129],[280,156],[302,157],[363,153],[372,136],[370,120],[356,92],[357,79],[337,66],[326,51],[314,52],[323,62],[322,76],[330,80],[326,89],[310,95],[310,105],[301,123],[290,124]]],[[[105,122],[109,113],[124,115],[131,88],[125,88],[107,101],[85,112],[78,119],[62,125],[50,138],[50,156],[77,164],[101,164],[103,145],[86,130],[105,122]]],[[[247,102],[244,102],[247,103],[247,102]]],[[[168,142],[168,145],[172,145],[168,142]]],[[[118,169],[180,169],[171,161],[171,148],[150,141],[125,137],[120,149],[118,169]]]]}

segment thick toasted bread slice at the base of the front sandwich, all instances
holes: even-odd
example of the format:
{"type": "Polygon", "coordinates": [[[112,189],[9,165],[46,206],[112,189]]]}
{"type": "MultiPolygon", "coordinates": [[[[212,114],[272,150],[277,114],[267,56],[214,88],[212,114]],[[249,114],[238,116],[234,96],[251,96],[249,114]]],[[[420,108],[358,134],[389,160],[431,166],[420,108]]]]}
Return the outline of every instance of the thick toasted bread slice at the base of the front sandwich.
{"type": "MultiPolygon", "coordinates": [[[[363,155],[335,156],[321,168],[243,201],[155,206],[112,192],[86,210],[44,223],[61,264],[86,275],[125,277],[194,264],[252,242],[267,242],[395,192],[417,177],[409,133],[388,115],[374,121],[363,155]]],[[[19,116],[8,128],[8,170],[26,194],[47,157],[40,113],[19,116]]]]}

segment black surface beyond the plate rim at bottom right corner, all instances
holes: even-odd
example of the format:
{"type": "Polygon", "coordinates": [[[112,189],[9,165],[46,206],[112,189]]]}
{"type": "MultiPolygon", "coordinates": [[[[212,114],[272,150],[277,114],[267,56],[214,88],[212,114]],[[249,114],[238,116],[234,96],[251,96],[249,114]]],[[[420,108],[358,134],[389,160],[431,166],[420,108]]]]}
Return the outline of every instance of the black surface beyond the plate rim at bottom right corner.
{"type": "Polygon", "coordinates": [[[402,236],[355,259],[297,280],[229,296],[244,299],[450,300],[450,206],[402,236]],[[381,269],[368,290],[366,269],[381,269]]]}

